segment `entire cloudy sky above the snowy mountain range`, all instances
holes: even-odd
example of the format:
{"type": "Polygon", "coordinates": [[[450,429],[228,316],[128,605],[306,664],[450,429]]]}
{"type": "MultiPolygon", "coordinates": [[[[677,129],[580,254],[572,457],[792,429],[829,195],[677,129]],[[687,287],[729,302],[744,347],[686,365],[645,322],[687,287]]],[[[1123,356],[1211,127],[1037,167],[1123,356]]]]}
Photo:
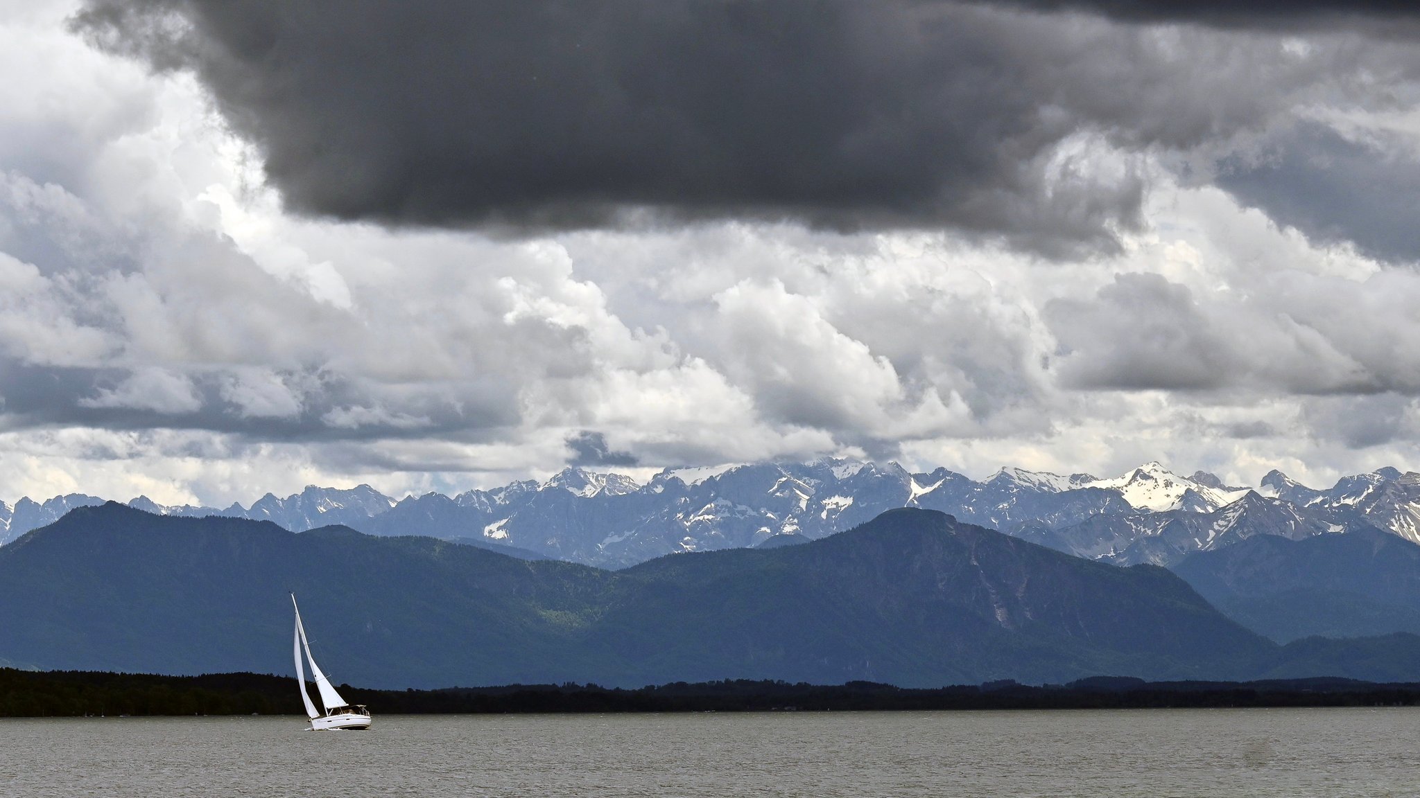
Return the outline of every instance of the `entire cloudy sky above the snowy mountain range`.
{"type": "Polygon", "coordinates": [[[0,0],[0,494],[1420,467],[1420,13],[1238,6],[0,0]]]}

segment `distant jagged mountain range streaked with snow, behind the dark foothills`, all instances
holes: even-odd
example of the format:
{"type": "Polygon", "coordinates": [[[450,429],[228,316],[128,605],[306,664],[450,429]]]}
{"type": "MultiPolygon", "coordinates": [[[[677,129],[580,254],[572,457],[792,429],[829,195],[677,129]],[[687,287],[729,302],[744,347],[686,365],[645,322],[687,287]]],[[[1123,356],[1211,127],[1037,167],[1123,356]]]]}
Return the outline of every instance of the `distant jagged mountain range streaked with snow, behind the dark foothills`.
{"type": "MultiPolygon", "coordinates": [[[[102,501],[70,494],[0,504],[0,542],[102,501]]],[[[163,515],[266,520],[291,531],[342,524],[373,535],[427,535],[606,568],[680,551],[757,547],[778,535],[822,538],[897,507],[940,510],[1118,565],[1173,565],[1260,534],[1308,538],[1380,528],[1420,541],[1420,474],[1396,469],[1345,477],[1331,488],[1274,470],[1247,488],[1204,471],[1173,474],[1159,463],[1113,479],[1001,469],[978,481],[946,469],[909,473],[896,463],[824,459],[667,469],[646,483],[567,469],[542,483],[402,500],[369,486],[312,486],[285,498],[267,494],[250,507],[166,507],[146,497],[128,504],[163,515]]]]}

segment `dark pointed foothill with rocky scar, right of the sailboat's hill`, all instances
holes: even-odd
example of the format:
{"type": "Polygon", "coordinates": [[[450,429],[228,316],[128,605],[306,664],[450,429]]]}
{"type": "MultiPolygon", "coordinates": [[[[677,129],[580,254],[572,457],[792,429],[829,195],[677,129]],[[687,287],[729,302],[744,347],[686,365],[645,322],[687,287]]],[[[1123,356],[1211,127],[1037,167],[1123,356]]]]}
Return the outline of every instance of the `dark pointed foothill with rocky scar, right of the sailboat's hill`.
{"type": "Polygon", "coordinates": [[[638,676],[676,662],[692,680],[727,667],[895,684],[1231,677],[1269,652],[1162,568],[1089,562],[926,510],[812,544],[666,557],[622,574],[616,588],[636,598],[613,603],[601,642],[635,652],[638,676]]]}

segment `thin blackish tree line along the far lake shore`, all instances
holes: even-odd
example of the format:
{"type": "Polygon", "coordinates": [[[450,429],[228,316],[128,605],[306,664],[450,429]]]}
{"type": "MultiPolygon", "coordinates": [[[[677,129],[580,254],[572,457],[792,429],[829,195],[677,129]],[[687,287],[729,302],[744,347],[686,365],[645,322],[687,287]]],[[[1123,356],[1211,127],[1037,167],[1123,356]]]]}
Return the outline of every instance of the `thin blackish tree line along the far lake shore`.
{"type": "MultiPolygon", "coordinates": [[[[291,679],[260,673],[152,676],[0,669],[0,717],[298,714],[291,679]]],[[[872,682],[677,682],[635,690],[596,684],[510,684],[444,690],[365,690],[346,699],[379,714],[843,711],[1166,707],[1416,706],[1420,684],[1348,679],[1272,682],[1142,682],[1086,679],[1071,684],[902,689],[872,682]]],[[[314,690],[312,690],[314,693],[314,690]]]]}

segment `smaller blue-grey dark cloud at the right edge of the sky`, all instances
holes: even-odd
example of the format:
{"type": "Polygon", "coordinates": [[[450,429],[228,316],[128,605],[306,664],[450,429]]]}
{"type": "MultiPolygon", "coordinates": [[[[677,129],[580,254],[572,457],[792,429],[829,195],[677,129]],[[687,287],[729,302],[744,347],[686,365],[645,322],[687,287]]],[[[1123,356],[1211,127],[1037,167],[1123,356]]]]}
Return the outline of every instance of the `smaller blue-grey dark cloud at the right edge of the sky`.
{"type": "Polygon", "coordinates": [[[1420,261],[1420,160],[1404,142],[1356,142],[1301,124],[1260,158],[1224,163],[1217,182],[1314,241],[1352,241],[1372,257],[1420,261]]]}

